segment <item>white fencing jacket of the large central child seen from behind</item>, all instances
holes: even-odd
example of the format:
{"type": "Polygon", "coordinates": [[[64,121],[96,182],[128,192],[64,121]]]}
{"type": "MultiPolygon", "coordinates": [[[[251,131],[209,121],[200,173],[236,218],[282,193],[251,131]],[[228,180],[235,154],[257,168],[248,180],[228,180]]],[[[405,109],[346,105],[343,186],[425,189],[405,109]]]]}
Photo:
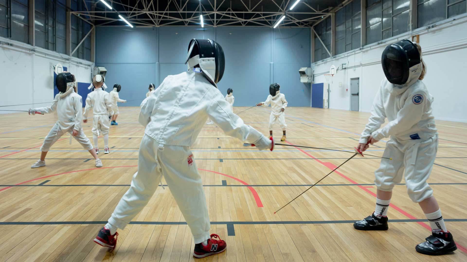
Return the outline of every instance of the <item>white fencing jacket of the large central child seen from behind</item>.
{"type": "Polygon", "coordinates": [[[163,145],[192,146],[207,118],[225,133],[248,143],[263,135],[230,110],[222,93],[193,68],[163,83],[141,103],[139,123],[163,145]]]}

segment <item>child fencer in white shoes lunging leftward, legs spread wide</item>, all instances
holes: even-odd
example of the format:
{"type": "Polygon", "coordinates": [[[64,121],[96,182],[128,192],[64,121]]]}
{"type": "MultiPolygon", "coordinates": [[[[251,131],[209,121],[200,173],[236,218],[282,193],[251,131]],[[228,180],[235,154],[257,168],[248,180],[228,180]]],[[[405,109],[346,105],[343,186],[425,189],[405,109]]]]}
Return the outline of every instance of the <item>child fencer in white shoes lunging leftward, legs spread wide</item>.
{"type": "Polygon", "coordinates": [[[76,93],[75,76],[69,72],[60,73],[55,78],[55,83],[60,92],[55,96],[52,104],[48,107],[39,107],[30,110],[30,113],[33,115],[35,111],[41,112],[42,114],[57,111],[58,117],[57,123],[55,123],[44,139],[44,143],[41,147],[41,158],[31,165],[31,168],[45,165],[45,156],[49,152],[50,147],[57,142],[65,132],[70,133],[79,144],[89,151],[92,157],[96,159],[96,166],[101,167],[102,161],[97,157],[91,141],[86,137],[81,127],[81,120],[83,119],[81,115],[83,112],[83,100],[81,96],[76,93]]]}

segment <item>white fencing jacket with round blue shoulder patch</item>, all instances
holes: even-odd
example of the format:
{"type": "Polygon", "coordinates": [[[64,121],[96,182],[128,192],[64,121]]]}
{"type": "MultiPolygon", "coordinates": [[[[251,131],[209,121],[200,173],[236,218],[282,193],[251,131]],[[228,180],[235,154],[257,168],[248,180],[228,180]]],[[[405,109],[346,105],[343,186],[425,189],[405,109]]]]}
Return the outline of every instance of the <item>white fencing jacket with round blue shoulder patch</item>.
{"type": "Polygon", "coordinates": [[[418,80],[419,76],[410,76],[402,88],[389,83],[386,78],[381,81],[360,143],[367,143],[372,135],[376,140],[394,136],[400,143],[412,140],[415,144],[437,134],[432,115],[433,97],[418,80]],[[386,117],[389,123],[380,128],[386,117]]]}

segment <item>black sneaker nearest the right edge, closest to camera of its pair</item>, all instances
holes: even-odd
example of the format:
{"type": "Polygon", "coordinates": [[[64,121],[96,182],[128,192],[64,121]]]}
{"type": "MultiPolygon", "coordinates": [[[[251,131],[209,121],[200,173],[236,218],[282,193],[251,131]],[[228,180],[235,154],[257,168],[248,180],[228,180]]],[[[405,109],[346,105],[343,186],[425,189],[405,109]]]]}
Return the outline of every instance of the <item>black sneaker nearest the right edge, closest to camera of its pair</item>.
{"type": "Polygon", "coordinates": [[[432,231],[432,235],[425,238],[426,241],[415,247],[418,253],[425,255],[444,255],[457,249],[453,235],[448,232],[432,231]]]}

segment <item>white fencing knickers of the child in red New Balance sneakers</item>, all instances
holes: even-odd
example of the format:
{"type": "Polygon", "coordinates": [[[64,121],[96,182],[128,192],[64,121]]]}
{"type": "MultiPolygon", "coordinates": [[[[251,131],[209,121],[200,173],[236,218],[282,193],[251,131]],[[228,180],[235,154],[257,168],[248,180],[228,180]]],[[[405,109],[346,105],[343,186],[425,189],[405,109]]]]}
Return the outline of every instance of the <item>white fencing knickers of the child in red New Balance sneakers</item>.
{"type": "MultiPolygon", "coordinates": [[[[112,226],[123,229],[145,207],[162,176],[170,188],[195,243],[209,239],[209,214],[203,182],[188,146],[160,145],[144,135],[141,141],[138,172],[109,218],[112,226]]],[[[163,204],[162,204],[163,205],[163,204]]]]}

